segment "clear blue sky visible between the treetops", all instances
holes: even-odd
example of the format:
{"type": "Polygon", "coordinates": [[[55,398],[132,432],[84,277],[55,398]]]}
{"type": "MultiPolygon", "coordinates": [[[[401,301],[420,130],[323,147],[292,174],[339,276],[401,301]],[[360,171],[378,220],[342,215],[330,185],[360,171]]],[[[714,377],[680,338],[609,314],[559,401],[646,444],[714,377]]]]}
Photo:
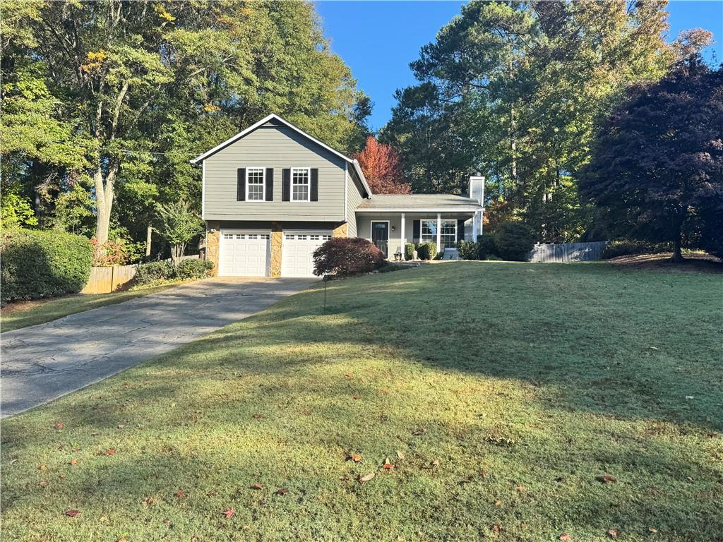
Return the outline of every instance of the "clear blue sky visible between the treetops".
{"type": "MultiPolygon", "coordinates": [[[[325,35],[332,51],[351,66],[358,86],[371,96],[372,129],[389,120],[394,91],[414,85],[409,63],[419,48],[435,39],[437,30],[460,12],[460,1],[330,1],[317,0],[325,35]]],[[[703,27],[716,44],[711,54],[723,61],[723,1],[674,0],[668,6],[670,31],[675,40],[680,30],[703,27]]]]}

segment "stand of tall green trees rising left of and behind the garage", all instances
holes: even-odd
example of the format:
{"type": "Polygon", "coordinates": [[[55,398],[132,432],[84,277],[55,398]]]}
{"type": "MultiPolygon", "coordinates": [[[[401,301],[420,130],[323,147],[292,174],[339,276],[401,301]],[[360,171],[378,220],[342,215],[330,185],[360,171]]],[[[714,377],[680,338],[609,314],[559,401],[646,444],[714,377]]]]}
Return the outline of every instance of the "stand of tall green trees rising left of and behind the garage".
{"type": "Polygon", "coordinates": [[[119,228],[145,238],[159,202],[200,207],[189,159],[270,112],[349,152],[369,132],[369,99],[312,4],[10,0],[0,11],[3,183],[35,200],[43,227],[67,218],[62,194],[85,187],[100,246],[119,228]]]}

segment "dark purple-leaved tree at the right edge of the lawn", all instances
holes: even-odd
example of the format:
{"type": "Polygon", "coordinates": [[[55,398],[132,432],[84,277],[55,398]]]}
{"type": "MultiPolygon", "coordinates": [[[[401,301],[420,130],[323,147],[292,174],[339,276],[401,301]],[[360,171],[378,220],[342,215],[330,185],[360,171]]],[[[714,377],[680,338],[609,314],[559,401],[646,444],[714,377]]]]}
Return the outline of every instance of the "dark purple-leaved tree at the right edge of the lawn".
{"type": "Polygon", "coordinates": [[[723,66],[696,54],[635,90],[604,124],[580,192],[612,231],[723,257],[723,66]]]}

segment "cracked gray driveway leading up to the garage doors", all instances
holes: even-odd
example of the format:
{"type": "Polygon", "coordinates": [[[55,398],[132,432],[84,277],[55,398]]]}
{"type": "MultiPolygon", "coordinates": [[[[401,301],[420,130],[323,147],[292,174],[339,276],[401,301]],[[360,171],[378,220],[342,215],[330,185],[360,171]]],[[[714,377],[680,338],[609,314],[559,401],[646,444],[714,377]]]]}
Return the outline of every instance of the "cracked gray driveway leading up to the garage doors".
{"type": "Polygon", "coordinates": [[[214,278],[3,333],[0,416],[108,378],[317,280],[214,278]]]}

